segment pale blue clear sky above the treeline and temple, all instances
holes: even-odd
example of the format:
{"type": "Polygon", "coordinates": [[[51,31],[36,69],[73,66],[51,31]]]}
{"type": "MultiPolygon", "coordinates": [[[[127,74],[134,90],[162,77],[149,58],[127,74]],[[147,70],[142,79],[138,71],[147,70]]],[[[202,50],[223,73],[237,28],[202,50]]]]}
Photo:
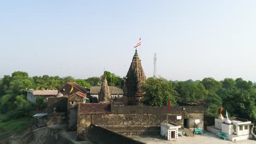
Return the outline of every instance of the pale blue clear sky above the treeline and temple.
{"type": "Polygon", "coordinates": [[[1,1],[0,77],[127,74],[256,81],[256,1],[1,1]]]}

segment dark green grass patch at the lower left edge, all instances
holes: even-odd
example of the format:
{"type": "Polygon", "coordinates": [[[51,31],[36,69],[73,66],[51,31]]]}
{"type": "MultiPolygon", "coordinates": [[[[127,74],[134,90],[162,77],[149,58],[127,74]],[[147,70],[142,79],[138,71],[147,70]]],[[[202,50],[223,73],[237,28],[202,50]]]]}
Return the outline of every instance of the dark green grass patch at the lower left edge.
{"type": "Polygon", "coordinates": [[[24,130],[30,121],[30,117],[10,119],[9,121],[6,121],[6,118],[7,116],[0,114],[0,140],[24,130]]]}

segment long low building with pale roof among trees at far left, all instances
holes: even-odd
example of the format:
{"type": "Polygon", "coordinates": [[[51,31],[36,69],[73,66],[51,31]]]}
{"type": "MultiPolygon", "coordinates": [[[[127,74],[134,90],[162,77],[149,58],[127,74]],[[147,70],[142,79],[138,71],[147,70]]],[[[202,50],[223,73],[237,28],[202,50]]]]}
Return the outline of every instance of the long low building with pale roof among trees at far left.
{"type": "Polygon", "coordinates": [[[42,95],[44,97],[44,102],[47,103],[48,97],[52,97],[58,93],[57,90],[34,90],[28,89],[27,91],[27,100],[31,103],[36,103],[37,97],[42,95]]]}

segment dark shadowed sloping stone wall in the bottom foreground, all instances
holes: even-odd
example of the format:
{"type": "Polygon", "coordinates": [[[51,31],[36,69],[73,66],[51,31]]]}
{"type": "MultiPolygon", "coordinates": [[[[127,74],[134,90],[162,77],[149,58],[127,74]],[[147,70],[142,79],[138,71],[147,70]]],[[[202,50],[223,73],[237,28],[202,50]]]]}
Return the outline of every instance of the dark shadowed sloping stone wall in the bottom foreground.
{"type": "Polygon", "coordinates": [[[136,141],[130,137],[115,133],[112,130],[103,128],[99,125],[91,125],[91,141],[94,143],[112,143],[112,144],[143,144],[144,142],[136,141]]]}

